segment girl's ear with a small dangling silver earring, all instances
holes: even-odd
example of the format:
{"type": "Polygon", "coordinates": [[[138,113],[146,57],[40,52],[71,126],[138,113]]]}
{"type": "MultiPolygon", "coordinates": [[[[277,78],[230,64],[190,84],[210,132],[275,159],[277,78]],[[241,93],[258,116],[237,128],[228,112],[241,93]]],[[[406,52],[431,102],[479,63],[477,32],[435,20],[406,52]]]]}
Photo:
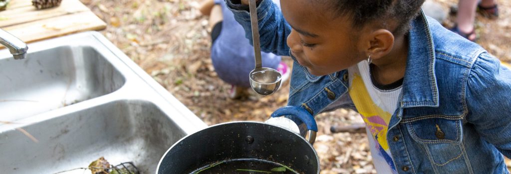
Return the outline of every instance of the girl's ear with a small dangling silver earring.
{"type": "Polygon", "coordinates": [[[394,35],[385,29],[379,29],[370,34],[369,48],[367,52],[371,59],[380,59],[392,50],[394,46],[394,35]]]}

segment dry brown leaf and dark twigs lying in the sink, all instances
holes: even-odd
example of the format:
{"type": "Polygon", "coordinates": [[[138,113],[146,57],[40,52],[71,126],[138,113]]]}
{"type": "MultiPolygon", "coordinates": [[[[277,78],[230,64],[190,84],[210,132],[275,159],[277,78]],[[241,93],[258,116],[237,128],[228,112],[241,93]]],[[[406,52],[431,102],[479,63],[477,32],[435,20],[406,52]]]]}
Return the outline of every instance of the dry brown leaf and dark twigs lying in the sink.
{"type": "Polygon", "coordinates": [[[123,162],[119,165],[113,166],[110,165],[104,157],[100,157],[96,161],[92,161],[88,167],[74,168],[71,170],[56,172],[54,174],[65,173],[78,169],[90,170],[91,174],[140,174],[140,171],[138,171],[138,168],[132,162],[123,162]]]}

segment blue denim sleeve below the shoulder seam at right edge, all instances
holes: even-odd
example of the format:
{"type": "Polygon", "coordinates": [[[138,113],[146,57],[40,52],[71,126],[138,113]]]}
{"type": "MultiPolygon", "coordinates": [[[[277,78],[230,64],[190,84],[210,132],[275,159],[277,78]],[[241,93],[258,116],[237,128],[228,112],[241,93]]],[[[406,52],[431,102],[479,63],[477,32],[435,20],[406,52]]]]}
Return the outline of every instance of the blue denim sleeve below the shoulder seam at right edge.
{"type": "Polygon", "coordinates": [[[511,158],[511,71],[489,53],[483,53],[470,71],[466,92],[466,120],[511,158]]]}

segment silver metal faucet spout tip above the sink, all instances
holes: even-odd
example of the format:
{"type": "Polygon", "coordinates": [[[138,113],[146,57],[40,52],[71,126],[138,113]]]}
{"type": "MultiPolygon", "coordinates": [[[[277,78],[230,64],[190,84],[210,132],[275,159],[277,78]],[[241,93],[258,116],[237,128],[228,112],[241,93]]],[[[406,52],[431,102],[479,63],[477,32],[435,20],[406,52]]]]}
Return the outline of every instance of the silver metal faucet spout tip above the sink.
{"type": "Polygon", "coordinates": [[[14,59],[25,59],[27,57],[27,44],[10,33],[0,29],[0,44],[9,48],[14,59]]]}

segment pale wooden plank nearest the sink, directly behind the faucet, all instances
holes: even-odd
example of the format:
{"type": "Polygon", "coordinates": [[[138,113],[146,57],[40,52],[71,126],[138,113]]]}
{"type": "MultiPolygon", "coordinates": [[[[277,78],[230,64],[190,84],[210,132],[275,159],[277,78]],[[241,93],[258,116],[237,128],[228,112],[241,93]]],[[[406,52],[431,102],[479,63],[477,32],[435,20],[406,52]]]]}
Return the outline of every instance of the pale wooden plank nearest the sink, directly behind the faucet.
{"type": "Polygon", "coordinates": [[[91,11],[85,11],[12,25],[3,29],[29,43],[78,32],[103,30],[105,27],[106,23],[103,20],[91,11]]]}

